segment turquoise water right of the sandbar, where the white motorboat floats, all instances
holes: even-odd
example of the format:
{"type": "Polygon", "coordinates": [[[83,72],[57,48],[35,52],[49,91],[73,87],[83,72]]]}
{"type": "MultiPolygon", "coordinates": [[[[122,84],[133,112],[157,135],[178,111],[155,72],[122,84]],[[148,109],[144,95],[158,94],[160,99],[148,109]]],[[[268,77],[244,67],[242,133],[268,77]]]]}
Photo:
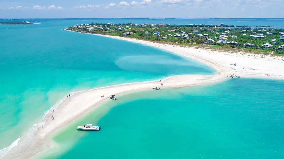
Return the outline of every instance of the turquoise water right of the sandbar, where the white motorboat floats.
{"type": "Polygon", "coordinates": [[[284,158],[283,89],[284,81],[237,78],[124,95],[71,123],[44,159],[284,158]],[[101,131],[75,127],[85,123],[101,131]]]}

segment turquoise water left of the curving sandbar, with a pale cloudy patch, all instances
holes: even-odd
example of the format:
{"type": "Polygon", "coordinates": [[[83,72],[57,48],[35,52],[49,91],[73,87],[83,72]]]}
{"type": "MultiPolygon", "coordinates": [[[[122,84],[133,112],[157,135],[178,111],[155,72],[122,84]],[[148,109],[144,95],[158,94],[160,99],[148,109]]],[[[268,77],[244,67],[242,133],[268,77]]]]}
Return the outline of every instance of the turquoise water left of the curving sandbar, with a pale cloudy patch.
{"type": "Polygon", "coordinates": [[[41,125],[34,124],[67,94],[215,72],[157,48],[63,30],[77,23],[85,22],[44,19],[34,25],[0,25],[0,158],[19,136],[18,144],[28,148],[41,125]]]}

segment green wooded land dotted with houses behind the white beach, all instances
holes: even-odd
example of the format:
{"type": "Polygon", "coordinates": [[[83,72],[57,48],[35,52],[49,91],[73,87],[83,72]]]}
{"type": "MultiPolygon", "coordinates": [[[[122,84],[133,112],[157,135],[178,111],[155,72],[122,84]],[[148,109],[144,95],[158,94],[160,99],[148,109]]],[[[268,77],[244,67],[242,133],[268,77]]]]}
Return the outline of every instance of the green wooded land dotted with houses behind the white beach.
{"type": "Polygon", "coordinates": [[[73,25],[65,29],[174,45],[240,49],[284,55],[284,29],[268,27],[251,28],[225,24],[102,24],[92,22],[73,25]]]}

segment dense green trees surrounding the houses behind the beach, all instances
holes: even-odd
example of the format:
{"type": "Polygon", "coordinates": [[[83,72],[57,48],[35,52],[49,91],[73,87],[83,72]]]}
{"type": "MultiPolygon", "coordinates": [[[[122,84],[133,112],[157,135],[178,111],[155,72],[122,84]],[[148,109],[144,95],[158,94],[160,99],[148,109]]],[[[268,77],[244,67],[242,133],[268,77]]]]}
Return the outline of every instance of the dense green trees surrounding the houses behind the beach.
{"type": "MultiPolygon", "coordinates": [[[[224,25],[227,26],[227,25],[224,25]]],[[[70,27],[74,31],[77,31],[77,28],[70,27]]],[[[284,42],[280,42],[280,36],[279,33],[284,32],[284,29],[273,29],[273,28],[250,28],[246,26],[242,27],[221,27],[221,26],[212,26],[209,25],[209,27],[197,27],[194,25],[135,25],[131,23],[127,24],[96,24],[96,23],[90,23],[88,25],[83,25],[83,28],[80,32],[89,32],[94,34],[108,34],[113,36],[122,36],[122,37],[129,37],[129,38],[136,38],[136,39],[143,39],[143,40],[150,40],[150,41],[165,41],[169,43],[179,43],[179,44],[205,44],[205,41],[209,38],[215,40],[214,43],[208,44],[208,45],[215,45],[213,47],[222,47],[222,48],[239,48],[244,50],[251,50],[251,51],[260,51],[260,52],[275,52],[277,54],[284,54],[284,50],[277,50],[278,46],[284,45],[284,42]],[[95,30],[87,30],[88,27],[94,27],[95,30]],[[97,27],[101,26],[101,29],[98,29],[97,27]],[[118,28],[119,26],[122,26],[118,28]],[[139,28],[138,28],[139,27],[139,28]],[[215,27],[215,28],[214,28],[215,27]],[[115,32],[112,32],[112,31],[115,32]],[[195,30],[198,30],[199,33],[194,34],[187,34],[189,32],[193,32],[195,30]],[[183,40],[181,37],[174,37],[174,36],[167,36],[168,34],[174,35],[175,33],[181,34],[181,31],[185,32],[187,35],[189,35],[188,40],[183,40]],[[227,42],[229,41],[236,41],[238,42],[237,45],[228,45],[227,43],[217,44],[218,37],[224,33],[225,31],[230,31],[229,33],[226,33],[227,42]],[[125,33],[131,33],[125,35],[125,33]],[[145,35],[145,32],[149,32],[150,35],[145,35]],[[159,32],[160,35],[153,35],[155,32],[159,32]],[[272,35],[268,35],[267,32],[274,32],[272,35]],[[135,34],[133,34],[135,33],[135,34]],[[219,34],[216,34],[219,33],[219,34]],[[196,34],[208,34],[208,37],[197,37],[196,34]],[[247,34],[247,35],[243,35],[247,34]],[[257,34],[263,34],[264,38],[253,38],[250,35],[257,35],[257,34]],[[232,38],[232,36],[237,36],[237,38],[232,38]],[[162,37],[167,37],[167,39],[162,40],[162,37]],[[275,41],[277,44],[270,43],[271,38],[275,38],[275,41]],[[244,44],[251,43],[255,44],[255,47],[244,47],[244,44]],[[265,43],[270,43],[273,45],[271,48],[261,49],[259,48],[261,45],[265,43]]]]}

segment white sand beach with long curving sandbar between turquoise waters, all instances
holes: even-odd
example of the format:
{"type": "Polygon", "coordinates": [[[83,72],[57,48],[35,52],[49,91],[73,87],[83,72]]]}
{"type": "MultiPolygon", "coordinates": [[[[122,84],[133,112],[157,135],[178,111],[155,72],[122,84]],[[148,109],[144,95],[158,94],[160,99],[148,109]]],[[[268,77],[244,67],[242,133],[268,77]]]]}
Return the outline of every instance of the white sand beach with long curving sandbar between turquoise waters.
{"type": "MultiPolygon", "coordinates": [[[[104,36],[104,35],[101,35],[104,36]]],[[[46,123],[44,127],[39,127],[38,131],[34,135],[36,140],[33,147],[26,153],[15,153],[13,150],[9,151],[4,158],[19,158],[25,159],[34,156],[36,153],[42,151],[44,147],[51,146],[50,136],[64,127],[68,123],[75,119],[85,115],[87,110],[90,110],[97,105],[101,104],[105,100],[109,99],[110,95],[116,95],[119,99],[119,95],[130,91],[138,91],[145,89],[152,89],[152,87],[187,87],[193,85],[203,85],[215,83],[228,79],[228,75],[236,74],[242,77],[256,77],[256,78],[282,78],[284,79],[284,61],[282,57],[265,56],[258,54],[245,54],[245,53],[230,53],[222,51],[213,51],[198,48],[185,48],[180,46],[174,46],[169,44],[158,44],[153,42],[146,42],[143,40],[136,40],[123,37],[107,36],[120,40],[127,40],[131,42],[137,42],[148,46],[158,47],[166,49],[177,54],[187,56],[194,60],[206,63],[217,70],[215,75],[179,75],[171,76],[162,81],[149,81],[140,83],[127,83],[122,85],[115,85],[97,89],[91,89],[89,91],[82,91],[75,93],[71,97],[66,98],[54,113],[48,113],[45,117],[46,123]],[[236,63],[236,66],[230,65],[236,63]],[[267,76],[266,74],[269,74],[267,76]],[[161,86],[161,83],[164,85],[161,86]],[[104,95],[105,97],[101,97],[104,95]],[[53,115],[54,119],[50,118],[53,115]],[[20,156],[20,157],[19,157],[20,156]]],[[[153,89],[153,91],[156,91],[153,89]]]]}

